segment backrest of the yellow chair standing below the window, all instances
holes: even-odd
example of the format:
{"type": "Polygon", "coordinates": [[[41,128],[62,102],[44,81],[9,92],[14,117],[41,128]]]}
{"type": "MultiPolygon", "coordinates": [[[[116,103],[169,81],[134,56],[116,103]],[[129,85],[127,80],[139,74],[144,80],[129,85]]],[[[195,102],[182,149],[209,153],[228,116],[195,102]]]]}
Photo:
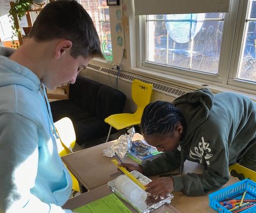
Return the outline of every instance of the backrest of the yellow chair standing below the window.
{"type": "Polygon", "coordinates": [[[151,94],[153,90],[153,84],[144,83],[137,79],[132,82],[132,99],[138,106],[138,110],[143,110],[149,103],[151,99],[151,94]]]}

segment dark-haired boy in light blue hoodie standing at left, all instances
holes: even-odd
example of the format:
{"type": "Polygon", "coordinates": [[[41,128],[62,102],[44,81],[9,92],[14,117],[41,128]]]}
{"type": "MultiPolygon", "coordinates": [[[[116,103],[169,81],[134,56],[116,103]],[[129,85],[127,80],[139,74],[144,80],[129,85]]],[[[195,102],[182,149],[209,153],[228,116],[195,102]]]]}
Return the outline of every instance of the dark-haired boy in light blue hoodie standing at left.
{"type": "Polygon", "coordinates": [[[71,178],[59,157],[45,87],[75,83],[102,57],[93,22],[76,1],[47,4],[29,39],[0,54],[0,212],[63,213],[71,178]]]}

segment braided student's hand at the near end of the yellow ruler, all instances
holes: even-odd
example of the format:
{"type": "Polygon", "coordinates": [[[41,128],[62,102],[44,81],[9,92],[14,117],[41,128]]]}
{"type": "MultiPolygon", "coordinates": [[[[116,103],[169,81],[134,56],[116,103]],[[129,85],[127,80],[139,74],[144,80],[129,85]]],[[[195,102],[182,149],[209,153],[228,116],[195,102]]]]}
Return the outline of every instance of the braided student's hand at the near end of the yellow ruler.
{"type": "Polygon", "coordinates": [[[164,196],[167,193],[171,193],[174,188],[172,177],[160,177],[145,186],[147,192],[158,196],[164,196]]]}

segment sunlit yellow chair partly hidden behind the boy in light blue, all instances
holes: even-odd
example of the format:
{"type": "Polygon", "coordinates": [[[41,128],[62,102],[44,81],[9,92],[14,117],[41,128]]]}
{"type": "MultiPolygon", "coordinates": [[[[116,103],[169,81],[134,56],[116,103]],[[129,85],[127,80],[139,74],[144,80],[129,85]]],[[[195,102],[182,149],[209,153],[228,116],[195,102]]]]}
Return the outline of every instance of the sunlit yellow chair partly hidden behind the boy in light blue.
{"type": "MultiPolygon", "coordinates": [[[[57,148],[60,157],[70,154],[76,143],[76,133],[74,126],[70,118],[63,117],[61,120],[54,123],[59,140],[57,139],[57,148]]],[[[66,166],[66,165],[65,165],[66,166]]],[[[80,192],[78,181],[75,176],[68,170],[72,178],[72,189],[76,192],[80,192]]]]}

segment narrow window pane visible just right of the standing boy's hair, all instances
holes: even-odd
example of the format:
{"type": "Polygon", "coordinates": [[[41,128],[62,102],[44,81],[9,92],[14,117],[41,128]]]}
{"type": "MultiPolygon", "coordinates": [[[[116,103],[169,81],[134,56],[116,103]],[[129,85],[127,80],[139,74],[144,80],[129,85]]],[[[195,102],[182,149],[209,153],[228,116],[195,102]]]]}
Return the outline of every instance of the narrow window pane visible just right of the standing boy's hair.
{"type": "Polygon", "coordinates": [[[108,61],[113,61],[109,8],[106,0],[80,0],[81,5],[92,18],[102,44],[102,53],[108,61]]]}

